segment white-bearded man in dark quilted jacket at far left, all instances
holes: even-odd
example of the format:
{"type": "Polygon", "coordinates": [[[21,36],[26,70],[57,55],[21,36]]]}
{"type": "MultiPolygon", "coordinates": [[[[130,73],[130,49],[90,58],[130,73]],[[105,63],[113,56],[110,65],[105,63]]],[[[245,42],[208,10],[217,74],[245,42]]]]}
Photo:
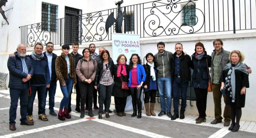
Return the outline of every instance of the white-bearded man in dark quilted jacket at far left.
{"type": "Polygon", "coordinates": [[[9,88],[11,105],[9,111],[9,129],[14,131],[16,110],[18,107],[18,100],[20,99],[20,124],[34,125],[33,122],[27,120],[27,104],[28,104],[28,88],[31,76],[34,74],[34,69],[29,57],[26,57],[26,46],[18,45],[15,57],[10,56],[7,62],[7,67],[10,73],[9,88]]]}

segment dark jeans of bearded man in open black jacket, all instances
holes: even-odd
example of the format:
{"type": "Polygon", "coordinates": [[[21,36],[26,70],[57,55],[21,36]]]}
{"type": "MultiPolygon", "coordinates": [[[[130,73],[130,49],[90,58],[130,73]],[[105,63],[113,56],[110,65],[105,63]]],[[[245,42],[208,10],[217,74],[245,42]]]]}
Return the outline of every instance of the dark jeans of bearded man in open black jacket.
{"type": "Polygon", "coordinates": [[[181,94],[181,108],[180,112],[184,113],[187,103],[187,89],[188,82],[183,83],[181,78],[174,77],[172,81],[172,94],[173,94],[173,107],[174,113],[179,113],[179,103],[180,103],[180,94],[181,94]]]}

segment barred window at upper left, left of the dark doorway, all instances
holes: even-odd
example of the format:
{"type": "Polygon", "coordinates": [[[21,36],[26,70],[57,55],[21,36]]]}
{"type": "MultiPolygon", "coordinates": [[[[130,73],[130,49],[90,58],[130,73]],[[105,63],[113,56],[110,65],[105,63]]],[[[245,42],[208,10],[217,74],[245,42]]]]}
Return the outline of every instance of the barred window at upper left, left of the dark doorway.
{"type": "Polygon", "coordinates": [[[57,32],[58,6],[42,2],[42,30],[57,32]]]}

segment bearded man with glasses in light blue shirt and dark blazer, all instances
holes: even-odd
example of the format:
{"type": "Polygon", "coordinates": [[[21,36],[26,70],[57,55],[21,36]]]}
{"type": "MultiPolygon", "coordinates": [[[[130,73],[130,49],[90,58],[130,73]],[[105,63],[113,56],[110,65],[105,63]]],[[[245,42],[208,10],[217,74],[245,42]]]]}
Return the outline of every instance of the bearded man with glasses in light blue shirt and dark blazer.
{"type": "Polygon", "coordinates": [[[48,67],[50,71],[50,80],[51,80],[50,87],[46,88],[45,101],[46,101],[47,93],[49,92],[48,95],[49,95],[50,114],[52,116],[57,116],[56,112],[54,112],[54,97],[55,97],[56,86],[57,86],[57,76],[55,71],[55,62],[56,62],[57,55],[52,53],[52,51],[54,50],[54,45],[52,42],[46,43],[45,50],[46,51],[44,52],[44,56],[48,61],[48,67]]]}

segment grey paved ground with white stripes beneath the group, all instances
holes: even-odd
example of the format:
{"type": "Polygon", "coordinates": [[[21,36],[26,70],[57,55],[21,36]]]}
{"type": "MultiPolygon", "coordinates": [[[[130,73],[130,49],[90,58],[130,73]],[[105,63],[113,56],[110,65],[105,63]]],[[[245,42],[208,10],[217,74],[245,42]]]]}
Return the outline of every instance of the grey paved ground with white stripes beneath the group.
{"type": "MultiPolygon", "coordinates": [[[[56,98],[56,112],[60,105],[60,98],[56,98]]],[[[72,104],[75,101],[72,101],[72,104]]],[[[241,121],[240,131],[230,132],[228,127],[223,126],[223,122],[212,125],[210,122],[214,118],[207,118],[206,123],[195,124],[197,116],[185,115],[185,119],[170,120],[167,116],[146,116],[145,110],[142,111],[142,118],[131,117],[132,112],[126,112],[126,116],[119,117],[110,114],[110,118],[104,115],[98,119],[97,111],[93,111],[94,117],[80,118],[80,114],[71,112],[72,118],[65,121],[58,120],[58,117],[51,116],[46,104],[46,114],[49,121],[38,120],[37,99],[34,101],[34,126],[20,125],[20,108],[17,110],[16,131],[9,130],[9,107],[10,95],[8,90],[0,91],[0,138],[256,138],[256,122],[241,121]]],[[[72,105],[72,109],[75,105],[72,105]]],[[[111,105],[111,110],[114,105],[111,105]]],[[[158,113],[158,111],[155,111],[158,113]]]]}

